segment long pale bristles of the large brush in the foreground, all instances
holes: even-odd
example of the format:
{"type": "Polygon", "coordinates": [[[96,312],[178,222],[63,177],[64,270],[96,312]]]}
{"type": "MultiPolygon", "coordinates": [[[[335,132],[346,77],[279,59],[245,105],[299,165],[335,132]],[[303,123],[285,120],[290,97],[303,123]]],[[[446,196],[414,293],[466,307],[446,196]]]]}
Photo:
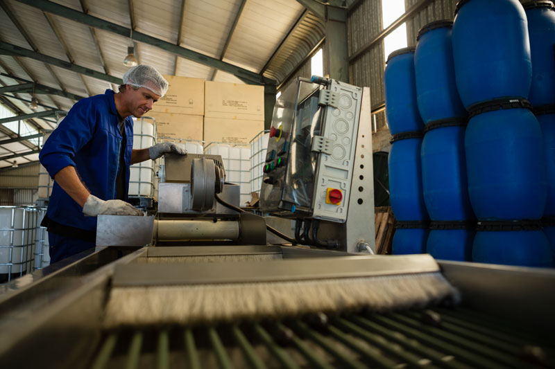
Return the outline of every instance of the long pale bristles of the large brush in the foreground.
{"type": "Polygon", "coordinates": [[[459,293],[441,273],[218,285],[115,287],[104,325],[189,325],[316,312],[424,307],[459,293]]]}

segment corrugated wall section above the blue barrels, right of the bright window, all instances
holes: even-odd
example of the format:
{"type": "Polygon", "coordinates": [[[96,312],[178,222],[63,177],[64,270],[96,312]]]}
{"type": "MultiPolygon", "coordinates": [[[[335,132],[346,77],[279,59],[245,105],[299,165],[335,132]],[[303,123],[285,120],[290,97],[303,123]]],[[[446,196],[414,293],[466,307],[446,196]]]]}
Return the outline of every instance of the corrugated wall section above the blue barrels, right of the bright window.
{"type": "MultiPolygon", "coordinates": [[[[404,8],[409,9],[420,0],[405,0],[404,8]]],[[[416,46],[418,30],[432,21],[454,19],[454,12],[458,0],[436,0],[425,9],[420,10],[412,19],[407,21],[407,42],[409,46],[416,46]]]]}

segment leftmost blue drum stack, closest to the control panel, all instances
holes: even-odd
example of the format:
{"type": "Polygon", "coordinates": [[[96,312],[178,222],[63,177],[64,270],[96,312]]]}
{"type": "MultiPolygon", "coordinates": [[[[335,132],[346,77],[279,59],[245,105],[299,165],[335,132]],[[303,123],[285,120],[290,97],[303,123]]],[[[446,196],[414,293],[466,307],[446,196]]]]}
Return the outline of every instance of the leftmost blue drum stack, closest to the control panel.
{"type": "Polygon", "coordinates": [[[394,254],[425,252],[429,233],[420,165],[424,124],[416,101],[414,51],[402,48],[391,53],[384,74],[386,117],[393,135],[388,167],[391,208],[397,219],[394,254]]]}

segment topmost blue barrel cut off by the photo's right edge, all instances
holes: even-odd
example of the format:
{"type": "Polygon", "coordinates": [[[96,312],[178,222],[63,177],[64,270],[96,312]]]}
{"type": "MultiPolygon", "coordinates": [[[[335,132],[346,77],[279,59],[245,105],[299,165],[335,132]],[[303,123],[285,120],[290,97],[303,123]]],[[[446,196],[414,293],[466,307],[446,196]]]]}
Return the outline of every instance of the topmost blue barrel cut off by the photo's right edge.
{"type": "Polygon", "coordinates": [[[555,103],[555,10],[551,1],[524,4],[528,18],[532,84],[528,100],[533,107],[555,103]]]}

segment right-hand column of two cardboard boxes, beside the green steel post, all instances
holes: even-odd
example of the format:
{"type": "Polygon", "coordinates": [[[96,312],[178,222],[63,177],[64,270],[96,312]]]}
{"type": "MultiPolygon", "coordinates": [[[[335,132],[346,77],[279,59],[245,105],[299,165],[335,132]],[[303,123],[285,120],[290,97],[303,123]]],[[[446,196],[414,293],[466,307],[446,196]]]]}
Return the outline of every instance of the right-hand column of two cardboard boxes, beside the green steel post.
{"type": "Polygon", "coordinates": [[[264,87],[205,82],[205,143],[248,145],[264,129],[264,87]]]}

